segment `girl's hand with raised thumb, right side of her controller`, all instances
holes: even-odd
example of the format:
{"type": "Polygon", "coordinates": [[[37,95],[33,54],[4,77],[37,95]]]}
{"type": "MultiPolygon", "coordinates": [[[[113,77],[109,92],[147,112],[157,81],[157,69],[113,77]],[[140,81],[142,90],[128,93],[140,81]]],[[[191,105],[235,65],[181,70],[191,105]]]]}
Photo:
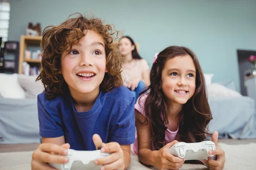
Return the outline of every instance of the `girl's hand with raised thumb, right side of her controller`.
{"type": "Polygon", "coordinates": [[[208,157],[208,160],[204,160],[204,163],[209,166],[210,170],[223,170],[225,165],[225,152],[218,145],[218,132],[215,131],[212,134],[212,142],[216,145],[216,150],[209,150],[210,155],[217,155],[217,160],[212,160],[208,157]]]}

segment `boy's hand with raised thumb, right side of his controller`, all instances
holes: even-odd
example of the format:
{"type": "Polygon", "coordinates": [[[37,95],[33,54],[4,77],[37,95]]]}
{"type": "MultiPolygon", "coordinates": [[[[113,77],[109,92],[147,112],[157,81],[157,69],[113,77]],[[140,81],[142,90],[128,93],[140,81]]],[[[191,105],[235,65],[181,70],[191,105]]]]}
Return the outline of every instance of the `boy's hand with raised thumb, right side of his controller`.
{"type": "Polygon", "coordinates": [[[98,134],[93,135],[93,142],[96,149],[101,148],[102,153],[110,153],[109,156],[96,159],[96,165],[103,165],[100,170],[124,170],[124,154],[120,145],[117,142],[103,143],[98,134]]]}

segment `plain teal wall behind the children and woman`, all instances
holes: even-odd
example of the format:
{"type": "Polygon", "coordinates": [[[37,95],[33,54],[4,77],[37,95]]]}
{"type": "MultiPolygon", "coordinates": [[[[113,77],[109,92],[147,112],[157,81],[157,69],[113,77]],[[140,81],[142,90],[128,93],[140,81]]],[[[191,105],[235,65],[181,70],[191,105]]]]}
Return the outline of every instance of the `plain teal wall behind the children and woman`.
{"type": "Polygon", "coordinates": [[[150,65],[163,48],[187,46],[203,71],[215,74],[213,82],[231,78],[238,91],[236,50],[256,50],[256,0],[11,0],[9,40],[20,40],[29,22],[43,29],[74,12],[125,29],[150,65]]]}

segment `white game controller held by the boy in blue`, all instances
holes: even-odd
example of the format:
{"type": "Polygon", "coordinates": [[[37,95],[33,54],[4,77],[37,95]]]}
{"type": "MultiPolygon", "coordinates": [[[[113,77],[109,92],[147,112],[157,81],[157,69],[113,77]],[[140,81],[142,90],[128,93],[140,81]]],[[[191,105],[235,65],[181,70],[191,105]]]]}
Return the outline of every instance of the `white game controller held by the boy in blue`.
{"type": "Polygon", "coordinates": [[[100,150],[80,151],[68,149],[68,153],[66,156],[68,157],[69,161],[67,164],[51,163],[49,165],[55,167],[58,170],[70,170],[74,161],[81,161],[83,164],[86,165],[86,169],[88,170],[94,169],[96,167],[98,167],[99,169],[101,165],[95,165],[94,160],[98,158],[103,158],[108,155],[109,153],[102,153],[100,150]]]}

